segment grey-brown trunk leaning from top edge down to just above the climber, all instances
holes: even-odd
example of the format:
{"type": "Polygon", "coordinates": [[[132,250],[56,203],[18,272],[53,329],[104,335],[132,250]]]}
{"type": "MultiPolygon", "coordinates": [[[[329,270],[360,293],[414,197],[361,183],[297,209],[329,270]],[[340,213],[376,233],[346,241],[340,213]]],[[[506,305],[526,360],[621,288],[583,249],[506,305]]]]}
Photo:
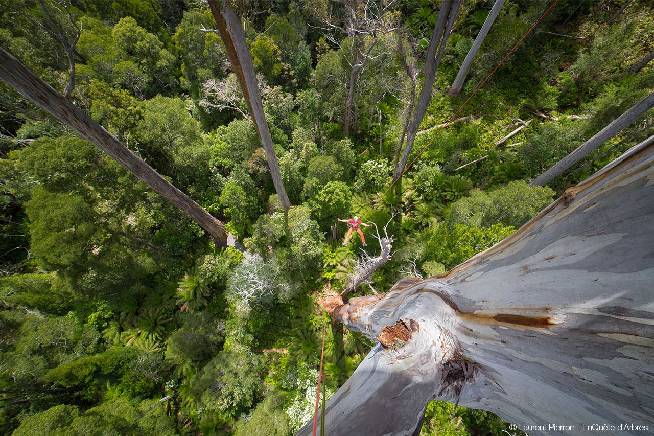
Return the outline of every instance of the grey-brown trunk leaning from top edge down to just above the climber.
{"type": "MultiPolygon", "coordinates": [[[[427,112],[429,100],[432,96],[432,86],[434,86],[434,81],[436,80],[436,69],[438,69],[438,65],[441,63],[443,52],[445,52],[445,45],[447,45],[452,26],[454,26],[460,4],[461,0],[443,0],[443,3],[441,3],[441,9],[438,13],[438,21],[436,22],[436,26],[434,26],[432,39],[430,39],[427,51],[424,55],[424,81],[422,83],[422,90],[418,98],[418,104],[415,106],[415,111],[413,112],[413,118],[411,118],[411,123],[409,124],[409,128],[407,128],[406,144],[404,145],[404,151],[402,151],[402,157],[395,166],[393,173],[394,180],[400,178],[404,172],[407,160],[409,160],[409,154],[411,154],[413,141],[415,140],[415,136],[418,133],[420,124],[422,123],[422,118],[424,118],[424,114],[427,112]],[[447,29],[445,28],[446,20],[447,29]],[[440,50],[438,50],[437,56],[436,50],[439,46],[440,50]]],[[[401,143],[402,138],[400,138],[400,144],[401,143]]]]}

